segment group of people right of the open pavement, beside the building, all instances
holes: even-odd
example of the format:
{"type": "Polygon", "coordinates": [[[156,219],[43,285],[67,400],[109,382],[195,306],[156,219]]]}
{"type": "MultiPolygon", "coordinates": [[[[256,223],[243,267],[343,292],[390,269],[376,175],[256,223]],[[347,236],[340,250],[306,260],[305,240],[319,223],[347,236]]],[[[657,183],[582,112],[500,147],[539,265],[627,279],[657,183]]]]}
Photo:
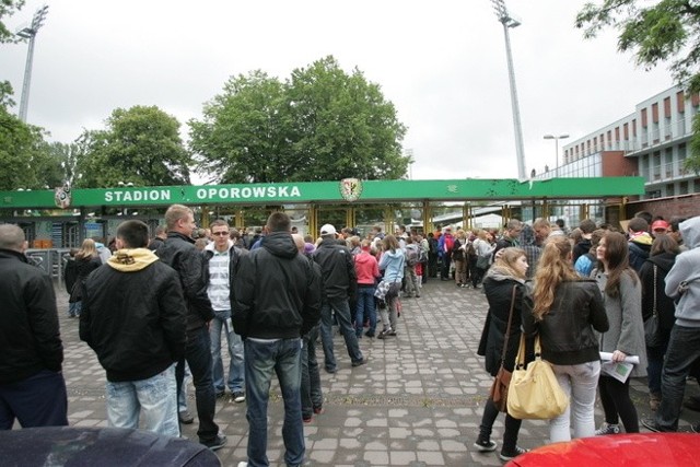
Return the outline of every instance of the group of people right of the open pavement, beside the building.
{"type": "MultiPolygon", "coordinates": [[[[630,377],[648,376],[654,416],[641,424],[676,431],[686,378],[700,376],[700,218],[667,222],[640,212],[626,229],[584,220],[565,232],[546,219],[532,226],[511,220],[501,240],[492,242],[494,262],[483,280],[489,311],[478,353],[495,376],[502,352],[505,370],[513,371],[521,334],[530,359],[532,340],[539,338],[542,359],[570,398],[567,411],[550,420],[550,442],[639,432],[630,377]],[[645,329],[649,319],[658,326],[645,329]],[[603,370],[604,355],[612,364],[635,363],[626,378],[615,377],[603,370]],[[597,430],[596,395],[605,415],[597,430]]],[[[686,406],[699,410],[700,401],[690,398],[686,406]]],[[[490,435],[498,413],[487,401],[477,451],[497,450],[490,435]]],[[[516,444],[520,427],[506,413],[501,459],[526,452],[516,444]]],[[[700,423],[691,430],[700,432],[700,423]]]]}

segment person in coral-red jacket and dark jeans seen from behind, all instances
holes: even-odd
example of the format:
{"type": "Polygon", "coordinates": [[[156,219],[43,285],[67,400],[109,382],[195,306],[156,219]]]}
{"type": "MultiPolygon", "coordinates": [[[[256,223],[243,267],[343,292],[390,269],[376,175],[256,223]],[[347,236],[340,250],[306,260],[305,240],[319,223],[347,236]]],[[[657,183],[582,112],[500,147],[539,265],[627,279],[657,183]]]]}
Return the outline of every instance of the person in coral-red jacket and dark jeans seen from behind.
{"type": "Polygon", "coordinates": [[[376,279],[380,277],[380,267],[376,258],[370,254],[372,242],[363,240],[360,244],[360,253],[354,257],[354,270],[358,275],[358,306],[354,314],[354,332],[358,339],[362,337],[362,327],[366,319],[370,320],[370,329],[366,337],[374,337],[376,331],[376,308],[374,307],[374,291],[376,279]]]}

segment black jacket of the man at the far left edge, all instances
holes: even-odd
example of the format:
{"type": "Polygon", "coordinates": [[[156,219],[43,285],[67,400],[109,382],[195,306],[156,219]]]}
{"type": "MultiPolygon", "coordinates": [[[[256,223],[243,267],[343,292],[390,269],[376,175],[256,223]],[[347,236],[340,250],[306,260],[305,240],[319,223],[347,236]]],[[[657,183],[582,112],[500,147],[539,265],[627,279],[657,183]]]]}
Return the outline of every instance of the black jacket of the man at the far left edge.
{"type": "Polygon", "coordinates": [[[10,249],[0,249],[0,384],[60,372],[63,345],[51,279],[10,249]]]}

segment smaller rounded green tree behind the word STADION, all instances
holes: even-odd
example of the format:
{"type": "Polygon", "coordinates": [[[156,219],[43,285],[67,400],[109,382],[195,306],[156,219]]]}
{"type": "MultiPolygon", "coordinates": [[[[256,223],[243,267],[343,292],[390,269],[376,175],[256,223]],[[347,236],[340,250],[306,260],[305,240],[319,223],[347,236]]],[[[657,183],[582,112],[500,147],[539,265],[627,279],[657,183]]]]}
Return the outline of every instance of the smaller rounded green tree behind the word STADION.
{"type": "Polygon", "coordinates": [[[85,130],[78,139],[75,187],[189,184],[192,163],[179,137],[180,124],[155,106],[117,108],[104,130],[85,130]]]}

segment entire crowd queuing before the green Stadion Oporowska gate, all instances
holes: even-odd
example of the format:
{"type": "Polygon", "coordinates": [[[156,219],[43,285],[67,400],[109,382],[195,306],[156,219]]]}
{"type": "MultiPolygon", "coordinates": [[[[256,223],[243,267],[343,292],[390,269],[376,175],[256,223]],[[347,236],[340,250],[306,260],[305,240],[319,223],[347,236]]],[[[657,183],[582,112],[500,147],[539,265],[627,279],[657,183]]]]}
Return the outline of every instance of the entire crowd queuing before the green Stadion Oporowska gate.
{"type": "MultiPolygon", "coordinates": [[[[401,299],[420,299],[430,279],[481,289],[488,300],[478,353],[495,376],[512,372],[521,339],[528,359],[541,343],[569,408],[550,420],[550,442],[572,437],[676,431],[686,378],[700,373],[700,218],[670,222],[646,212],[626,232],[584,220],[516,219],[502,232],[444,226],[425,236],[376,226],[323,225],[317,238],[272,213],[264,229],[238,232],[223,220],[198,229],[191,209],[171,206],[150,238],[136,220],[119,224],[107,246],[85,240],[66,265],[68,314],[106,372],[110,427],[179,436],[194,423],[187,381],[195,388],[199,442],[215,451],[226,436],[214,421],[217,399],[246,402],[247,459],[267,466],[267,405],[272,376],[284,401],[284,462],[304,463],[304,424],[324,412],[320,362],[335,373],[334,326],[351,367],[366,363],[360,339],[399,332],[401,299]],[[651,326],[653,320],[655,326],[651,326]],[[223,339],[222,339],[223,334],[223,339]],[[223,367],[222,342],[229,352],[223,367]],[[604,371],[637,362],[646,376],[654,417],[639,420],[629,377],[604,371]],[[228,389],[228,390],[226,390],[228,389]],[[596,429],[599,397],[605,420],[596,429]]],[[[56,296],[48,276],[27,262],[23,231],[0,225],[0,429],[67,425],[63,359],[56,296]]],[[[686,405],[700,410],[700,400],[686,405]]],[[[474,448],[491,440],[500,413],[489,399],[474,448]]],[[[505,413],[500,458],[518,446],[522,420],[505,413]]],[[[698,424],[692,430],[700,431],[698,424]]]]}

